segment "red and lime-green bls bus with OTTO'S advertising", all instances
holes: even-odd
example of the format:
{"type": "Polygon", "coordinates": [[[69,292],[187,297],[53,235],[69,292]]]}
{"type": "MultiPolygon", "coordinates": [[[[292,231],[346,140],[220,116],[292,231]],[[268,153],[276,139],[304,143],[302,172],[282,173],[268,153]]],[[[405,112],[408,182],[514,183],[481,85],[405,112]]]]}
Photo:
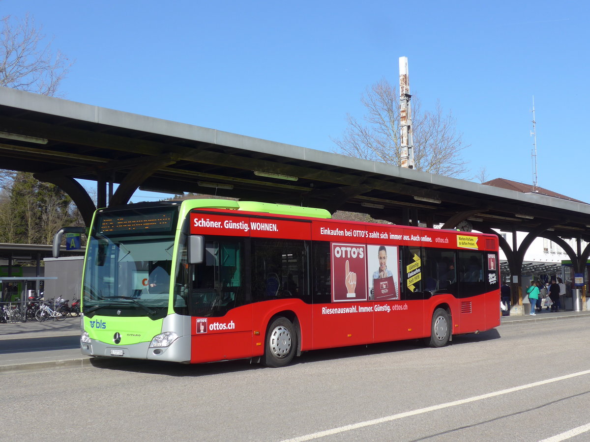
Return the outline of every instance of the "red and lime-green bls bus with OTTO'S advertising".
{"type": "Polygon", "coordinates": [[[333,220],[282,204],[130,204],[94,215],[81,351],[280,367],[322,348],[442,347],[500,325],[499,289],[494,235],[333,220]]]}

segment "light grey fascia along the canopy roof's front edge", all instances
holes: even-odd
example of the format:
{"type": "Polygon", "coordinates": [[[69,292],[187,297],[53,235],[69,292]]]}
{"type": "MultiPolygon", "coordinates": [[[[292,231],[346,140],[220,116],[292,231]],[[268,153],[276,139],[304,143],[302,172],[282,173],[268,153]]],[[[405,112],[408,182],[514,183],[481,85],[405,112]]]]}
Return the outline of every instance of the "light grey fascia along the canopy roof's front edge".
{"type": "Polygon", "coordinates": [[[522,193],[517,192],[516,190],[501,189],[500,187],[487,186],[486,184],[473,183],[467,180],[418,170],[404,169],[399,166],[394,166],[393,164],[378,163],[376,161],[348,157],[342,154],[294,146],[286,143],[278,143],[277,141],[248,137],[216,129],[194,126],[192,124],[163,120],[161,118],[142,116],[95,105],[77,103],[76,101],[65,100],[64,98],[48,97],[46,95],[33,94],[6,87],[0,87],[0,105],[23,108],[58,117],[71,118],[73,120],[89,121],[91,123],[106,124],[108,126],[128,128],[131,130],[158,133],[164,136],[185,138],[187,140],[202,141],[205,143],[222,144],[236,149],[251,150],[259,153],[268,153],[321,164],[333,164],[334,166],[351,170],[400,177],[402,179],[435,184],[441,187],[454,187],[467,192],[489,194],[520,202],[543,204],[545,206],[571,210],[572,212],[590,214],[590,204],[576,203],[540,194],[522,193]]]}

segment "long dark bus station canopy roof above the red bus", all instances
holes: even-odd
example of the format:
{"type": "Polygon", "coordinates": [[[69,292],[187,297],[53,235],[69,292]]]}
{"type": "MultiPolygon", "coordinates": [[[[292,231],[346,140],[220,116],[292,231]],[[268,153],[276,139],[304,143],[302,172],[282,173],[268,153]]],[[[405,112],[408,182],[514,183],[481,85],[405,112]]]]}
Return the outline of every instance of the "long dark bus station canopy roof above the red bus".
{"type": "Polygon", "coordinates": [[[399,224],[552,232],[590,240],[590,205],[402,169],[215,129],[0,88],[0,164],[60,186],[89,225],[93,200],[75,181],[369,213],[399,224]]]}

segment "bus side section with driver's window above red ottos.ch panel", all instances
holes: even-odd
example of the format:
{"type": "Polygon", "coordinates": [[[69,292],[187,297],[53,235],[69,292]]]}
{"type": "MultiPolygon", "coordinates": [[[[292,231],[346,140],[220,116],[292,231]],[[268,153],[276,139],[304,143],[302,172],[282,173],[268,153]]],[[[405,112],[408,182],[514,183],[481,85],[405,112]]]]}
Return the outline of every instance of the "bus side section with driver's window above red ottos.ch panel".
{"type": "Polygon", "coordinates": [[[242,238],[206,237],[202,263],[191,268],[191,362],[252,356],[249,263],[242,238]]]}

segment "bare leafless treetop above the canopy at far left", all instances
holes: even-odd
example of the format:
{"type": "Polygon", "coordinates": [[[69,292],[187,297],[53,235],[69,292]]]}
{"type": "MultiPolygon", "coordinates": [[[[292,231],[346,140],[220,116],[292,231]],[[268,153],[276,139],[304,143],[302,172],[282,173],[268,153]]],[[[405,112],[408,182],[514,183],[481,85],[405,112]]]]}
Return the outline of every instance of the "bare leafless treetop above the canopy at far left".
{"type": "Polygon", "coordinates": [[[34,19],[7,15],[0,19],[0,86],[55,95],[71,62],[60,51],[51,51],[42,28],[34,19]]]}

